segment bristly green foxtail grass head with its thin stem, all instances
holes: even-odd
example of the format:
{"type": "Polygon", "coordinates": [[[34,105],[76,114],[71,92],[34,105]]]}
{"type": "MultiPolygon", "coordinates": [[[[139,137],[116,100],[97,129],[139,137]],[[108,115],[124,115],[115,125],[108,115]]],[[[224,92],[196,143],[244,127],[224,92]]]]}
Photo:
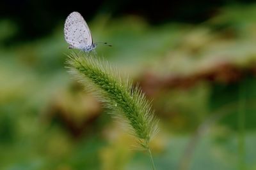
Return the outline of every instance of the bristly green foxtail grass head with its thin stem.
{"type": "Polygon", "coordinates": [[[113,117],[128,125],[139,146],[148,151],[155,169],[148,143],[158,131],[158,120],[138,85],[134,87],[129,78],[122,79],[115,67],[95,53],[72,52],[67,64],[69,73],[91,91],[113,117]]]}

